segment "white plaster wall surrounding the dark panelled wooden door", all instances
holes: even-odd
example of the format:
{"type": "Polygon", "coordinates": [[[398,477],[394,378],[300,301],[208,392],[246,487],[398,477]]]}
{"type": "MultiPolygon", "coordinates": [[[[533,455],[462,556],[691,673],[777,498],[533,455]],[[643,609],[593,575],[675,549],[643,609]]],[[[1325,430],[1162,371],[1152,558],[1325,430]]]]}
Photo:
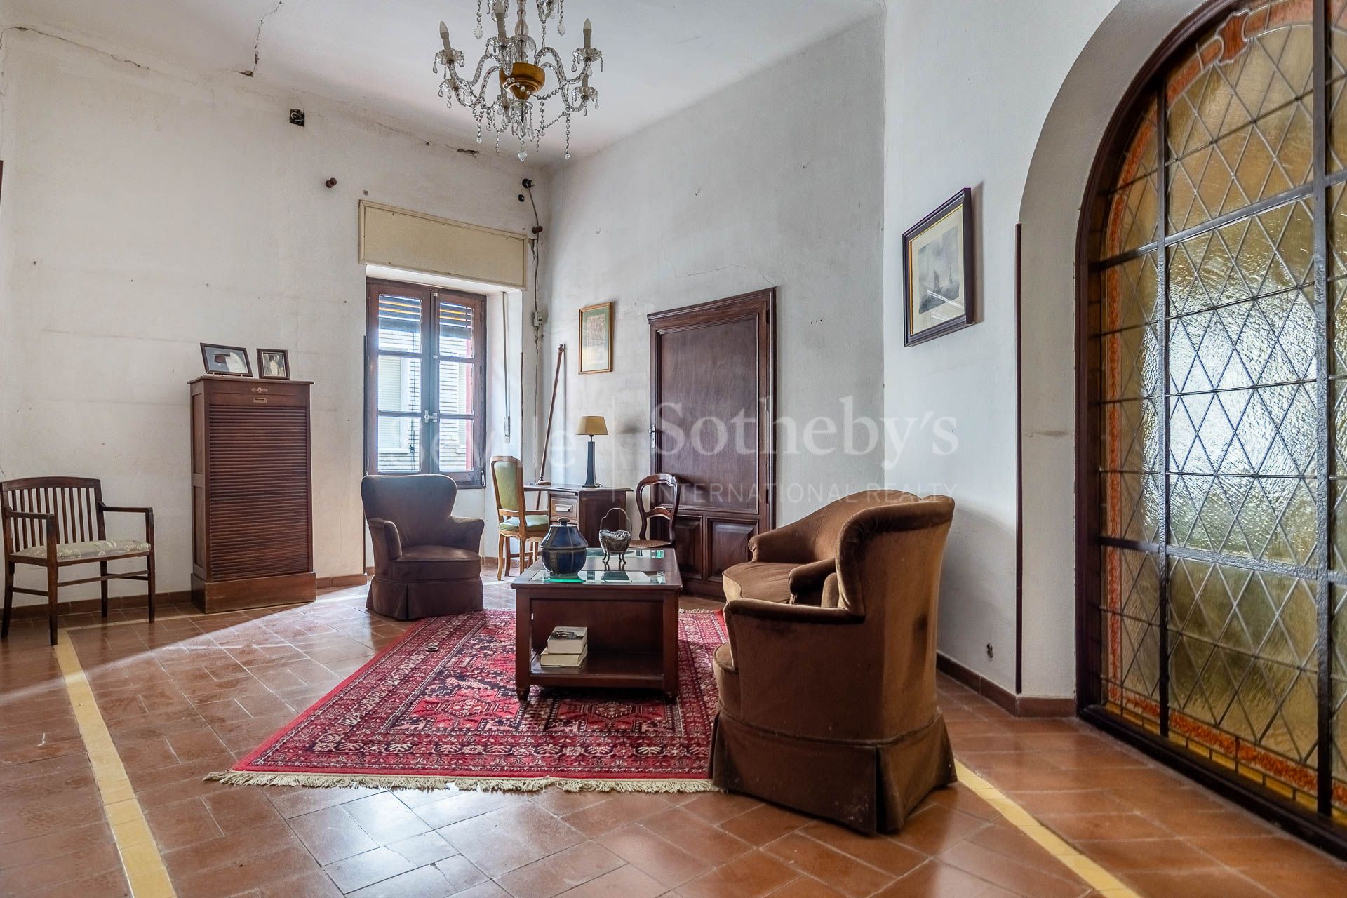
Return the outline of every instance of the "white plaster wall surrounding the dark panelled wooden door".
{"type": "MultiPolygon", "coordinates": [[[[583,479],[585,440],[570,434],[582,415],[603,415],[612,434],[598,438],[599,482],[649,473],[645,316],[764,287],[779,288],[777,415],[838,419],[843,397],[880,415],[881,43],[870,19],[548,172],[544,389],[556,345],[567,347],[554,481],[583,479]],[[613,373],[581,376],[577,311],[609,300],[613,373]]],[[[787,522],[877,485],[880,447],[783,451],[777,471],[787,522]]]]}

